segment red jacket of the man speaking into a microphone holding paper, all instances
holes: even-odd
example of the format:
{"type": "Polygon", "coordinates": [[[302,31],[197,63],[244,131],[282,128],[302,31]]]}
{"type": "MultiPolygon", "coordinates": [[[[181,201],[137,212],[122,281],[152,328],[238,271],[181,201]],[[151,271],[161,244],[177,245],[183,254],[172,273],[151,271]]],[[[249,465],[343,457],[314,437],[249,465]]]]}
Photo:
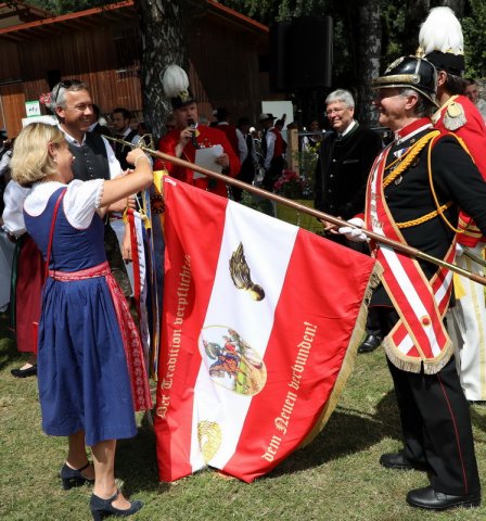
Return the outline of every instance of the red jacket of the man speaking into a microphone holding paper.
{"type": "MultiPolygon", "coordinates": [[[[161,139],[161,141],[158,141],[158,150],[161,152],[165,152],[166,154],[175,156],[176,147],[179,143],[179,136],[180,130],[178,129],[168,132],[161,139]]],[[[228,154],[230,161],[228,175],[230,177],[235,177],[238,175],[241,167],[240,160],[233,152],[233,149],[231,148],[231,144],[229,143],[223,132],[221,132],[217,128],[199,125],[196,140],[197,143],[204,148],[213,147],[215,144],[222,145],[222,150],[228,154]]],[[[194,157],[195,149],[192,145],[192,142],[189,141],[189,143],[184,147],[180,158],[194,163],[194,157]]],[[[169,175],[175,177],[176,179],[180,179],[181,181],[188,182],[189,185],[202,188],[203,190],[208,190],[209,192],[217,193],[225,198],[228,195],[227,187],[223,182],[214,181],[213,179],[209,179],[207,177],[194,179],[193,170],[176,166],[174,163],[157,160],[154,164],[154,169],[166,169],[169,175]]]]}

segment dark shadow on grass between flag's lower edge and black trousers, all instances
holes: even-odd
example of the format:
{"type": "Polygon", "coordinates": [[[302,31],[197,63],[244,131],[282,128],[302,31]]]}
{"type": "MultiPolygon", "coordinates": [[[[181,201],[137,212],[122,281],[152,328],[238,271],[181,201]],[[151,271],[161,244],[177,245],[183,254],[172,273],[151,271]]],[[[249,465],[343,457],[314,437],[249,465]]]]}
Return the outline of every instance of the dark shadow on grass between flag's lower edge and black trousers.
{"type": "Polygon", "coordinates": [[[292,454],[267,479],[319,467],[375,445],[384,437],[401,440],[395,393],[389,391],[378,404],[374,415],[337,407],[314,442],[292,454]],[[345,434],[344,434],[345,433],[345,434]]]}

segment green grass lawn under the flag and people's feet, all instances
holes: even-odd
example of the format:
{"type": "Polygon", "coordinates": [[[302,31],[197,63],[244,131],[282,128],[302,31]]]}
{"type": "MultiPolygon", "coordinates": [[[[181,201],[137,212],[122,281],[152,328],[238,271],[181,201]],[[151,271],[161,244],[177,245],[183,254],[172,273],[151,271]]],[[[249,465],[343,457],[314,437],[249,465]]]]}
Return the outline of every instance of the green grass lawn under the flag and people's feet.
{"type": "MultiPolygon", "coordinates": [[[[37,380],[18,380],[22,364],[0,316],[0,520],[89,520],[88,486],[64,492],[59,471],[65,439],[40,430],[37,380]]],[[[486,484],[486,407],[471,409],[476,453],[486,484]]],[[[380,455],[400,448],[400,428],[383,351],[359,355],[338,407],[315,442],[252,484],[207,470],[172,484],[157,483],[155,440],[139,417],[139,434],[118,445],[116,475],[145,507],[133,520],[479,520],[478,509],[427,512],[405,503],[424,473],[393,471],[380,455]]],[[[116,518],[111,518],[116,519],[116,518]]]]}

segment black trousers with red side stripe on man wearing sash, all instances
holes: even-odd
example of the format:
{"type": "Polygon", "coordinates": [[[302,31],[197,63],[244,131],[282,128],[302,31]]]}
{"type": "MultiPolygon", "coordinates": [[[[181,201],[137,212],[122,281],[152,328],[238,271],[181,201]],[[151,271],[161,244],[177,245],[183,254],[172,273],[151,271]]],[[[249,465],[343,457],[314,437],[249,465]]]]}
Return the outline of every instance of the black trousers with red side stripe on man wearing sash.
{"type": "MultiPolygon", "coordinates": [[[[382,334],[396,323],[393,308],[380,307],[382,334]]],[[[405,439],[404,456],[427,463],[432,487],[463,496],[481,490],[469,404],[452,357],[436,374],[408,372],[389,360],[405,439]]]]}

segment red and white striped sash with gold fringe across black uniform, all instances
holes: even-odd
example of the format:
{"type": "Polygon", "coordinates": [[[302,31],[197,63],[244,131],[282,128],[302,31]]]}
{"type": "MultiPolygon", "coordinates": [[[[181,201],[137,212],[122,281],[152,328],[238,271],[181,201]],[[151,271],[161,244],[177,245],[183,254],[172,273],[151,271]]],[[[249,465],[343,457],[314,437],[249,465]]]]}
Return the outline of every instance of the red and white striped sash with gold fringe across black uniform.
{"type": "MultiPolygon", "coordinates": [[[[367,188],[366,228],[406,244],[386,204],[383,175],[386,148],[376,158],[367,188]]],[[[452,242],[445,260],[452,263],[452,242]]],[[[419,263],[384,244],[376,244],[376,259],[384,268],[383,284],[400,320],[386,336],[383,345],[389,360],[398,368],[420,372],[422,364],[427,374],[438,372],[453,353],[443,322],[452,291],[452,274],[438,268],[431,281],[419,263]]]]}

